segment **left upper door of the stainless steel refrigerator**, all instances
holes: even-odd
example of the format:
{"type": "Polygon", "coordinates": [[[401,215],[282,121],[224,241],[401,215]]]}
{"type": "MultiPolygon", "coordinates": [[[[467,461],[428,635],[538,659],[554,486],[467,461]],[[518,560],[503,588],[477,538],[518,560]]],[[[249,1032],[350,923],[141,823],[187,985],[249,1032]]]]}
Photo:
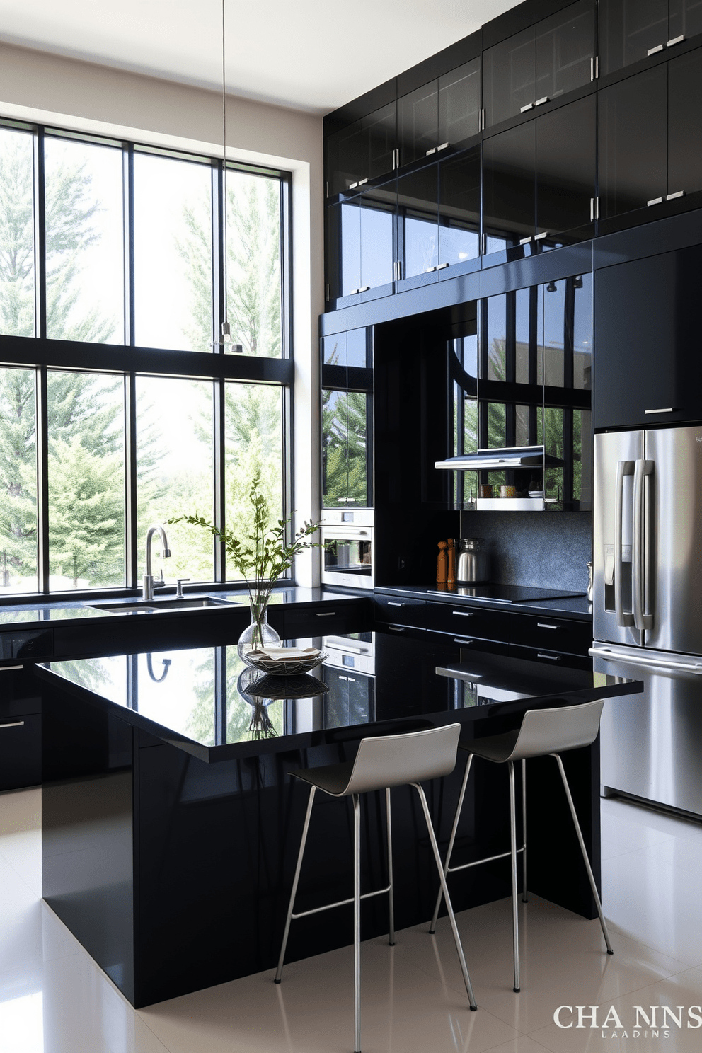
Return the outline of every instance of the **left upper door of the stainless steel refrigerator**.
{"type": "Polygon", "coordinates": [[[643,643],[643,632],[634,624],[631,573],[634,473],[643,456],[643,432],[595,436],[593,629],[598,640],[643,643]]]}

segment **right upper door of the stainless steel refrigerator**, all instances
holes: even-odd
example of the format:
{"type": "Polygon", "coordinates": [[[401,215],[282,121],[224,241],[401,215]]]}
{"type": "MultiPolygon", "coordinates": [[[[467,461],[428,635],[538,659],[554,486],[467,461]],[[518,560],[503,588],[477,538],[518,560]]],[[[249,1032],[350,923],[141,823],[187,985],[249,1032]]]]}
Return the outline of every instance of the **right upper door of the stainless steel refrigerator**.
{"type": "Polygon", "coordinates": [[[642,561],[644,615],[653,612],[644,643],[702,654],[702,428],[646,432],[645,458],[641,521],[655,559],[642,561]]]}

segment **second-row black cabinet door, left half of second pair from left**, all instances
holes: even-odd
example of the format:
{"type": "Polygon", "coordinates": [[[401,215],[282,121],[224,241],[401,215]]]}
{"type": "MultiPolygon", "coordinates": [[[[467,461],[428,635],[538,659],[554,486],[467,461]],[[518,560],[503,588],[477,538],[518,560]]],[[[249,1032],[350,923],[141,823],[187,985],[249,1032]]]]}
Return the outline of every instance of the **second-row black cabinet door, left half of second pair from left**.
{"type": "Polygon", "coordinates": [[[439,176],[437,164],[398,179],[397,235],[402,278],[434,275],[439,264],[439,176]]]}

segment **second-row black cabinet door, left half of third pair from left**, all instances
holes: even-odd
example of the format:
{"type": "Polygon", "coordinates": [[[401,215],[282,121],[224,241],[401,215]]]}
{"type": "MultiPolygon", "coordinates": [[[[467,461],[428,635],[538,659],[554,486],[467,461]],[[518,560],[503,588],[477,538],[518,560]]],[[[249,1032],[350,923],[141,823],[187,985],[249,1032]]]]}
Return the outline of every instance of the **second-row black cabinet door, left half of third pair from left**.
{"type": "Polygon", "coordinates": [[[536,121],[483,142],[483,232],[492,254],[536,233],[536,121]]]}

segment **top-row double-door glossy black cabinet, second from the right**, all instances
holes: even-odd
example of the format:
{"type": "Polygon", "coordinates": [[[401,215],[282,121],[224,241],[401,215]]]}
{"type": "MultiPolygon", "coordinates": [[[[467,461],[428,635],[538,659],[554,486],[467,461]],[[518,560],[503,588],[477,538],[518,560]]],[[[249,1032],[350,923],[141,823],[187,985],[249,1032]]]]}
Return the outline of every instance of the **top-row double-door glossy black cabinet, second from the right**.
{"type": "Polygon", "coordinates": [[[485,127],[589,83],[595,32],[595,0],[578,0],[485,51],[485,127]]]}

